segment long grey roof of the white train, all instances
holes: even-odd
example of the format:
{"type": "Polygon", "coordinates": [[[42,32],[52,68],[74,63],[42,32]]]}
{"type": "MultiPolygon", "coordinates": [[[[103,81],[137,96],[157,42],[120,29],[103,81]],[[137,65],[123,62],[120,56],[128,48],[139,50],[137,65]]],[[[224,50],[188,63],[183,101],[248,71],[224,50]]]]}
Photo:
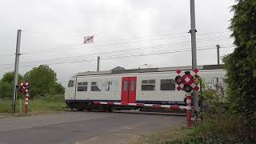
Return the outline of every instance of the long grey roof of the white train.
{"type": "MultiPolygon", "coordinates": [[[[102,75],[102,74],[129,74],[129,73],[148,73],[148,72],[164,72],[164,71],[176,71],[176,70],[192,70],[192,66],[174,66],[174,67],[158,67],[158,68],[146,68],[146,69],[130,69],[126,70],[121,66],[117,66],[112,70],[105,71],[86,71],[75,74],[72,78],[77,76],[87,75],[102,75]]],[[[198,66],[198,70],[222,70],[223,65],[203,65],[198,66]]]]}

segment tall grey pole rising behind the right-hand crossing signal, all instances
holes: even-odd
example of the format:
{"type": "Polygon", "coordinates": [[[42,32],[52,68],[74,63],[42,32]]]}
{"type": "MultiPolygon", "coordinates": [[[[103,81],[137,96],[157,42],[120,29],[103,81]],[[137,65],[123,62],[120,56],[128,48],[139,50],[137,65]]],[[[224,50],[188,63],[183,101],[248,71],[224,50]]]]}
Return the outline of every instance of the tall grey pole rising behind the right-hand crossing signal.
{"type": "MultiPolygon", "coordinates": [[[[194,10],[194,0],[190,0],[190,22],[191,22],[191,49],[192,49],[192,70],[197,68],[197,48],[196,48],[196,32],[195,29],[195,10],[194,10]]],[[[198,94],[193,91],[194,98],[194,109],[199,110],[198,107],[198,94]]]]}

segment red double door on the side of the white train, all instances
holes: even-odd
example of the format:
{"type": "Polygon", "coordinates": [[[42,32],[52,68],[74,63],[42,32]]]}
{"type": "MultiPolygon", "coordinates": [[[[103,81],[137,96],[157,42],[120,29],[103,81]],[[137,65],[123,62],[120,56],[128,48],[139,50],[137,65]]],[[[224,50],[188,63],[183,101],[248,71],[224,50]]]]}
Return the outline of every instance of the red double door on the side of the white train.
{"type": "Polygon", "coordinates": [[[136,102],[136,77],[122,77],[122,102],[136,102]]]}

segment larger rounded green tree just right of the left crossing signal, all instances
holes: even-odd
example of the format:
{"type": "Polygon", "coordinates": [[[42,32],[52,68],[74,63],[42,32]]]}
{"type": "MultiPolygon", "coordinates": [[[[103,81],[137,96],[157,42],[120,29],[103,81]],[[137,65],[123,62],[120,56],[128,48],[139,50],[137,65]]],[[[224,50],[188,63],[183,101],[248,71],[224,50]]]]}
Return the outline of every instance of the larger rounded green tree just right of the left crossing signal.
{"type": "Polygon", "coordinates": [[[46,65],[34,67],[24,75],[24,79],[30,83],[31,97],[50,93],[57,80],[54,70],[46,65]]]}

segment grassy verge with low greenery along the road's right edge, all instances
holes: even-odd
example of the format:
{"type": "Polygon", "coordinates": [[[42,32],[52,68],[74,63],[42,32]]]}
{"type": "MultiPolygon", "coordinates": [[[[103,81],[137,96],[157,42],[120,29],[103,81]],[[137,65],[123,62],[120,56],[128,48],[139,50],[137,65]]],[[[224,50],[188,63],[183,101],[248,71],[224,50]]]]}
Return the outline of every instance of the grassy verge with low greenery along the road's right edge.
{"type": "Polygon", "coordinates": [[[141,135],[138,143],[153,144],[230,144],[230,143],[248,143],[242,142],[241,134],[242,124],[238,117],[231,115],[208,116],[203,122],[191,129],[186,127],[178,129],[166,129],[155,134],[141,135]]]}

